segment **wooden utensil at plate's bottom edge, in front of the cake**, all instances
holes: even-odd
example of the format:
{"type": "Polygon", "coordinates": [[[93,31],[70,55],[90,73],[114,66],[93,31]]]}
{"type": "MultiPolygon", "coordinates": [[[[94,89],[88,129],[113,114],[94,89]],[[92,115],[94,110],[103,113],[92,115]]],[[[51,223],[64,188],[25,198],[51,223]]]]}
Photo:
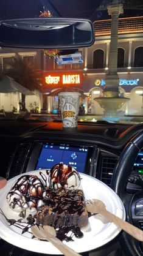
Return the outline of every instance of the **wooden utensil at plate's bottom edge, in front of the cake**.
{"type": "Polygon", "coordinates": [[[38,227],[37,225],[34,225],[31,227],[31,231],[35,237],[51,242],[65,256],[81,256],[80,254],[66,246],[66,244],[62,243],[57,237],[55,237],[56,232],[54,227],[46,225],[38,227]]]}

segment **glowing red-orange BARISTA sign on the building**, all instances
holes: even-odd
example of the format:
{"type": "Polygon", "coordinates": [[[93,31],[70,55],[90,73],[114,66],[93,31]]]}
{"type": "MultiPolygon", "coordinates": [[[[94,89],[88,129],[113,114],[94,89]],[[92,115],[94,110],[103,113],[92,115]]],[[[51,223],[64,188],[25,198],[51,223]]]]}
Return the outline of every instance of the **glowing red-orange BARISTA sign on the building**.
{"type": "Polygon", "coordinates": [[[58,74],[44,77],[46,85],[80,85],[81,80],[80,74],[58,74]]]}

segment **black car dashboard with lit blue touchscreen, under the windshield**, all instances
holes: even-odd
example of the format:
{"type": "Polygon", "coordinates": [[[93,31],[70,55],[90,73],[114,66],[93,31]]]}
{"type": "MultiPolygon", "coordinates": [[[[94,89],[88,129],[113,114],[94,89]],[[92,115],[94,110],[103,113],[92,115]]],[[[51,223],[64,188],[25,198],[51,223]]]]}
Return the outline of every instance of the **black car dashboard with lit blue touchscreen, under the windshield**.
{"type": "MultiPolygon", "coordinates": [[[[51,168],[58,162],[100,179],[108,186],[120,152],[143,128],[123,124],[78,124],[63,129],[60,122],[6,122],[0,126],[1,176],[51,168]]],[[[141,152],[140,152],[141,154],[141,152]]],[[[139,174],[141,159],[134,163],[139,174]]],[[[128,189],[139,189],[138,184],[128,189]]]]}

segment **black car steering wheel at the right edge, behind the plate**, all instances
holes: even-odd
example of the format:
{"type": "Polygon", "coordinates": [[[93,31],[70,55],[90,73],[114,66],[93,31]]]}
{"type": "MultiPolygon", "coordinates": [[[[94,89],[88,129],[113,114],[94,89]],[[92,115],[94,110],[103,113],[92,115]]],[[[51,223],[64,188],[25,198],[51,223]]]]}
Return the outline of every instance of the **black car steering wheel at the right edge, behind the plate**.
{"type": "MultiPolygon", "coordinates": [[[[131,224],[134,224],[133,217],[136,215],[134,214],[134,206],[136,205],[136,201],[143,200],[143,196],[142,192],[136,194],[128,194],[126,188],[128,183],[128,176],[130,176],[134,162],[141,148],[143,148],[143,131],[134,136],[120,154],[111,183],[111,188],[116,192],[117,195],[119,195],[120,199],[124,203],[125,211],[127,214],[127,221],[131,224]],[[136,200],[136,198],[138,198],[138,200],[136,200]]],[[[136,216],[135,224],[137,223],[138,216],[136,216]]],[[[127,233],[122,232],[120,234],[119,242],[125,252],[125,255],[142,255],[141,242],[137,241],[127,233]]]]}

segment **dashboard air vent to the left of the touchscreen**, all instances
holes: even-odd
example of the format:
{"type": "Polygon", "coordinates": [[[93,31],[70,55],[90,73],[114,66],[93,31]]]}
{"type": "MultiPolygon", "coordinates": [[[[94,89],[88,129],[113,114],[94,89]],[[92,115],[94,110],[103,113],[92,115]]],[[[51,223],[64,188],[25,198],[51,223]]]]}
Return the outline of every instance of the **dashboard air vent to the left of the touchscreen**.
{"type": "Polygon", "coordinates": [[[9,167],[7,179],[11,179],[22,173],[27,152],[29,151],[30,143],[21,143],[17,146],[13,154],[12,161],[9,167]]]}

